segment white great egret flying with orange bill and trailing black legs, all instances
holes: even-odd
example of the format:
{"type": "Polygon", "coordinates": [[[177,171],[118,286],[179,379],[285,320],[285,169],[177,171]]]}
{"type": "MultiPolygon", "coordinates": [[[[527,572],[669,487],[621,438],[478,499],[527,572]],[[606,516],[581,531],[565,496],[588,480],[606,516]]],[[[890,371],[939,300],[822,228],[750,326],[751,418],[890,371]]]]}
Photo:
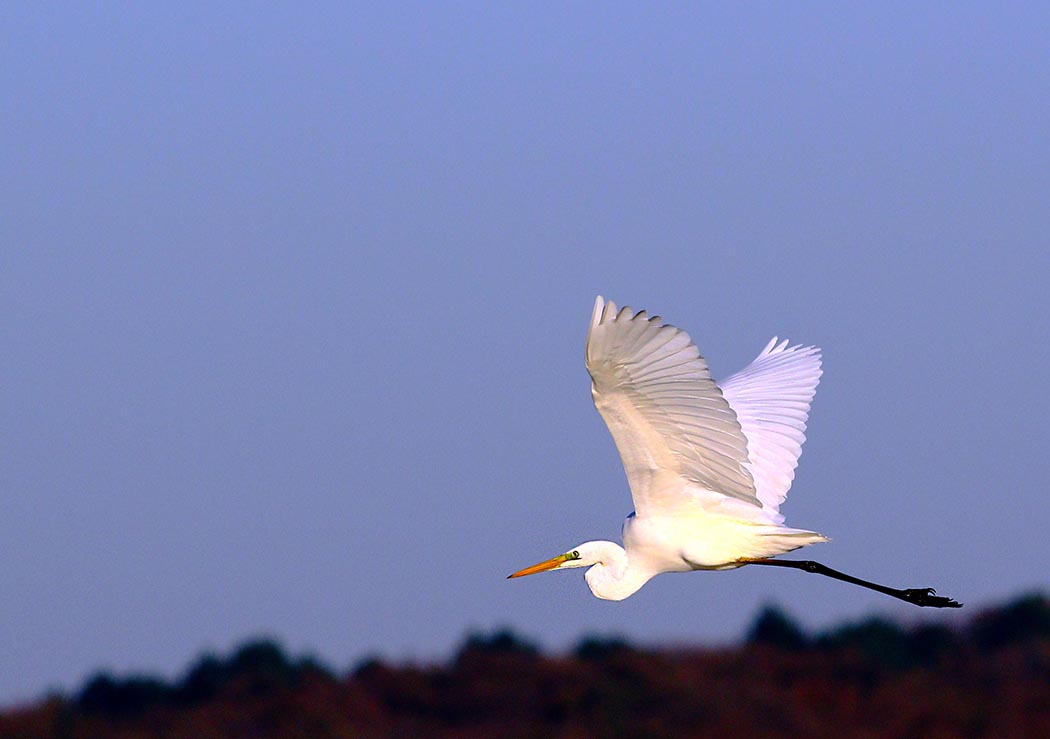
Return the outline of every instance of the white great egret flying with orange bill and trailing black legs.
{"type": "Polygon", "coordinates": [[[587,333],[594,405],[624,462],[634,512],[624,547],[586,542],[509,577],[590,568],[591,592],[623,600],[662,572],[792,567],[915,604],[959,608],[931,588],[898,590],[817,562],[773,559],[826,542],[783,525],[805,440],[820,350],[774,337],[720,385],[689,335],[600,295],[587,333]]]}

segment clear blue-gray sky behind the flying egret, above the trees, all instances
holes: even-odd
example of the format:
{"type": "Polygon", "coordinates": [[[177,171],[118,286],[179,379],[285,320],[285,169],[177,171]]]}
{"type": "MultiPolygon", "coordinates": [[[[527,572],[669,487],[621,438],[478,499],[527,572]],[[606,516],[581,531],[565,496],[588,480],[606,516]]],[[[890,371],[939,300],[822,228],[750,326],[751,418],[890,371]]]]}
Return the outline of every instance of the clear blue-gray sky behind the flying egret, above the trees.
{"type": "Polygon", "coordinates": [[[1045,4],[96,5],[0,10],[0,704],[264,633],[348,667],[930,615],[506,582],[631,509],[597,293],[716,376],[823,347],[815,557],[1046,583],[1045,4]]]}

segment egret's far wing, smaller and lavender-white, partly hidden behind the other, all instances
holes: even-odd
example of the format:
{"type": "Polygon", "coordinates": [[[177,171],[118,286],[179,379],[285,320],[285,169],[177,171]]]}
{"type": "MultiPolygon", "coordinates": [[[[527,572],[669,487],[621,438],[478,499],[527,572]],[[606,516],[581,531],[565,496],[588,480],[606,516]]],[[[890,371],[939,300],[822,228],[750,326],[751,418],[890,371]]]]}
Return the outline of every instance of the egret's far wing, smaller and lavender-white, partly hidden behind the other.
{"type": "Polygon", "coordinates": [[[820,381],[820,350],[788,346],[776,337],[751,364],[721,383],[748,439],[748,468],[762,507],[778,509],[795,479],[810,401],[820,381]]]}

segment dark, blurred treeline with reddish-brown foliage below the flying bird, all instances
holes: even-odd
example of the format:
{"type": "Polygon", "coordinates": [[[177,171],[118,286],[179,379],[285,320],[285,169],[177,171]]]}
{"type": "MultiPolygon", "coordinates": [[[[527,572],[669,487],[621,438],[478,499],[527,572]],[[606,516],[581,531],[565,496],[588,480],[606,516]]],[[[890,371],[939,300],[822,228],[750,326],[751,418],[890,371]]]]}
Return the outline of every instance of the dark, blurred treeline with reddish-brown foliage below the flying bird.
{"type": "Polygon", "coordinates": [[[181,677],[100,673],[0,713],[0,737],[1050,736],[1050,600],[957,627],[872,618],[811,634],[766,608],[743,643],[642,650],[587,637],[544,656],[509,631],[444,666],[336,674],[272,640],[181,677]]]}

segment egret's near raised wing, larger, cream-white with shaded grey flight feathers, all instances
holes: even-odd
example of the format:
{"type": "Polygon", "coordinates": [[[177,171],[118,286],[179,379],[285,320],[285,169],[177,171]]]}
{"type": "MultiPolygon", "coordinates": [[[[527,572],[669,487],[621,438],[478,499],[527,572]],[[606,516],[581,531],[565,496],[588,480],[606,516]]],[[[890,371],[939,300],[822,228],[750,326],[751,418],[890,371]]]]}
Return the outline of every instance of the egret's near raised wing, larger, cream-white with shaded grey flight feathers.
{"type": "Polygon", "coordinates": [[[761,505],[740,424],[686,332],[645,311],[617,311],[600,295],[587,334],[587,372],[635,510],[674,506],[697,486],[761,505]]]}

